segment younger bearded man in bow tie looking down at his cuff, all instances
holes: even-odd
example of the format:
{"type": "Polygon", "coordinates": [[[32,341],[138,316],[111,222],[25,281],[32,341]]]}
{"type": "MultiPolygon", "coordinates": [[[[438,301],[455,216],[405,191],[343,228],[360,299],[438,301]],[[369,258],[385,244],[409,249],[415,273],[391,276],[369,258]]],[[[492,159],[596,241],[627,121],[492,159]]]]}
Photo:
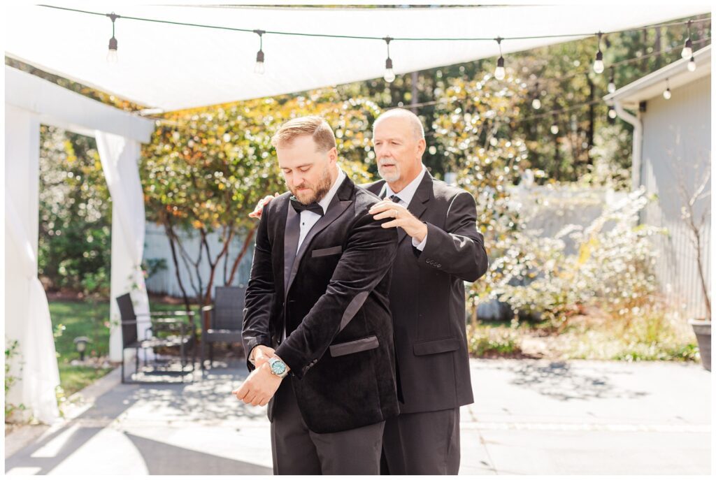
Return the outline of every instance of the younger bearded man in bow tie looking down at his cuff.
{"type": "Polygon", "coordinates": [[[273,143],[291,192],[263,207],[243,325],[253,371],[234,393],[270,401],[274,473],[378,474],[398,411],[397,232],[369,215],[378,200],[339,169],[323,119],[291,120],[273,143]]]}

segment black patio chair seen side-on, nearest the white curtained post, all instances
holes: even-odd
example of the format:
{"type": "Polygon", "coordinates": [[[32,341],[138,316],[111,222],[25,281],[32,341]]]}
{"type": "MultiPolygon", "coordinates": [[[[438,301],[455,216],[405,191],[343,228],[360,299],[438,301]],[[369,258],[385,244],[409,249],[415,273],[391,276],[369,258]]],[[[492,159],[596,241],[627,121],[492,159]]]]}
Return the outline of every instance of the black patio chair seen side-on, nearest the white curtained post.
{"type": "MultiPolygon", "coordinates": [[[[165,370],[168,373],[181,373],[181,381],[184,382],[184,376],[187,373],[194,371],[194,364],[196,361],[196,328],[194,319],[194,312],[186,312],[184,310],[178,310],[174,312],[155,312],[147,314],[137,315],[134,311],[134,305],[132,305],[132,298],[129,293],[120,295],[117,297],[117,306],[120,308],[120,317],[122,318],[122,383],[152,383],[152,382],[137,382],[127,381],[125,378],[125,351],[133,348],[135,349],[135,375],[139,373],[139,351],[145,352],[145,367],[147,366],[147,355],[146,351],[150,348],[162,348],[162,347],[179,347],[179,356],[181,363],[180,372],[172,372],[165,370]],[[148,319],[150,326],[146,329],[145,333],[151,335],[145,335],[145,339],[140,340],[137,337],[137,321],[148,319]],[[191,368],[186,368],[188,364],[188,348],[192,349],[191,368]]],[[[159,369],[156,369],[159,371],[159,369]]],[[[131,378],[131,376],[130,376],[131,378]]]]}

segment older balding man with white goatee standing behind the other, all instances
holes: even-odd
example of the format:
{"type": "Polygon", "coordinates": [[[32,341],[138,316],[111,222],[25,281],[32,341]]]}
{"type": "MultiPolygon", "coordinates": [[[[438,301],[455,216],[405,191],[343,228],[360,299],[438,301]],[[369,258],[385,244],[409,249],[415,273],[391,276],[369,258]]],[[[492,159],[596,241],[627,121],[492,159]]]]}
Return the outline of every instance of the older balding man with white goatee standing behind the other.
{"type": "Polygon", "coordinates": [[[401,403],[385,425],[382,473],[456,475],[460,406],[473,403],[463,282],[488,268],[475,200],[427,172],[425,134],[412,112],[378,117],[373,143],[383,180],[364,187],[384,200],[370,212],[399,232],[390,310],[401,403]]]}

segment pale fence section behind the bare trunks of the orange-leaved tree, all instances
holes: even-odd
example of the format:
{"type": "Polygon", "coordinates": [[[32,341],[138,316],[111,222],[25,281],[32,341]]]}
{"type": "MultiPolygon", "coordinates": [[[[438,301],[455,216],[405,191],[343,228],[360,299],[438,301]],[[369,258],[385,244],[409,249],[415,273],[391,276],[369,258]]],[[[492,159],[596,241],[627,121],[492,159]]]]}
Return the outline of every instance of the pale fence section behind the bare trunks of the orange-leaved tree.
{"type": "MultiPolygon", "coordinates": [[[[176,269],[174,266],[174,261],[172,260],[172,252],[169,245],[169,240],[164,232],[164,227],[162,225],[155,225],[152,222],[147,222],[146,228],[147,230],[145,235],[144,248],[145,260],[163,258],[167,267],[166,270],[160,270],[158,273],[155,273],[154,275],[151,275],[149,278],[147,278],[147,290],[150,293],[162,293],[166,295],[180,297],[181,289],[179,288],[176,269]]],[[[196,258],[198,256],[198,248],[200,243],[200,238],[198,237],[198,235],[191,237],[188,234],[182,234],[180,236],[183,239],[182,242],[185,247],[185,250],[193,258],[196,258]]],[[[214,286],[221,287],[223,285],[226,285],[226,280],[228,280],[228,276],[231,274],[231,266],[233,265],[233,261],[236,259],[238,253],[241,251],[241,248],[243,246],[243,239],[244,237],[242,236],[240,238],[235,237],[232,240],[228,251],[228,265],[225,263],[224,260],[221,260],[214,276],[214,286]]],[[[216,258],[216,255],[218,255],[222,248],[222,243],[218,240],[218,233],[214,232],[211,235],[208,235],[208,244],[212,256],[216,258]]],[[[177,252],[177,255],[179,255],[179,252],[177,252]]],[[[246,285],[246,283],[248,283],[248,275],[249,273],[251,273],[252,258],[253,240],[251,240],[251,245],[249,245],[248,250],[246,250],[246,254],[243,256],[243,259],[241,259],[241,263],[238,266],[238,270],[236,272],[236,275],[234,276],[232,285],[246,285]]],[[[195,296],[195,290],[191,286],[191,280],[193,278],[194,284],[198,285],[198,279],[196,278],[196,272],[193,268],[193,265],[190,265],[190,267],[190,270],[187,270],[187,268],[185,268],[184,263],[179,258],[179,268],[182,284],[184,285],[184,289],[186,290],[187,295],[193,297],[195,296]]],[[[202,277],[203,290],[205,290],[206,288],[209,273],[210,269],[206,260],[206,254],[203,253],[202,263],[200,264],[200,275],[202,277]]]]}

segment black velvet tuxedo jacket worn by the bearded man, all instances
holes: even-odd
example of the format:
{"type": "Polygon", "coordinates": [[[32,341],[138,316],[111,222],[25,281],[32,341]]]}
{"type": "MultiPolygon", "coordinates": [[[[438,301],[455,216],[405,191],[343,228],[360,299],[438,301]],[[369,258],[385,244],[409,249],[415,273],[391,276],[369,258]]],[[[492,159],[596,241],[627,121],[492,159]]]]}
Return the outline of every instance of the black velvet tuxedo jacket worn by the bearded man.
{"type": "Polygon", "coordinates": [[[300,215],[289,196],[263,207],[258,224],[244,310],[246,353],[257,345],[276,348],[291,368],[284,381],[311,431],[384,421],[398,411],[388,305],[397,233],[368,215],[377,198],[346,178],[296,253],[300,215]]]}

